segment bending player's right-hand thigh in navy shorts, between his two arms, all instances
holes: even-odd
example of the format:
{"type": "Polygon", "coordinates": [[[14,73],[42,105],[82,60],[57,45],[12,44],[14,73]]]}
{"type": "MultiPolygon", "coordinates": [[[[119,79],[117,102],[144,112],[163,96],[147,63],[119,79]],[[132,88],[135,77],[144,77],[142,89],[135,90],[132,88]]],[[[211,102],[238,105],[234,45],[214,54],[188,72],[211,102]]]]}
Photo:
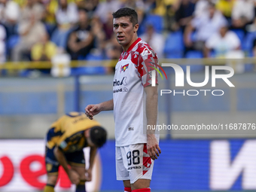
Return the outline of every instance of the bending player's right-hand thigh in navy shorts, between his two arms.
{"type": "Polygon", "coordinates": [[[68,160],[69,165],[73,170],[78,172],[80,175],[80,180],[85,180],[85,159],[84,159],[84,151],[75,151],[70,154],[66,154],[66,159],[68,160]]]}

